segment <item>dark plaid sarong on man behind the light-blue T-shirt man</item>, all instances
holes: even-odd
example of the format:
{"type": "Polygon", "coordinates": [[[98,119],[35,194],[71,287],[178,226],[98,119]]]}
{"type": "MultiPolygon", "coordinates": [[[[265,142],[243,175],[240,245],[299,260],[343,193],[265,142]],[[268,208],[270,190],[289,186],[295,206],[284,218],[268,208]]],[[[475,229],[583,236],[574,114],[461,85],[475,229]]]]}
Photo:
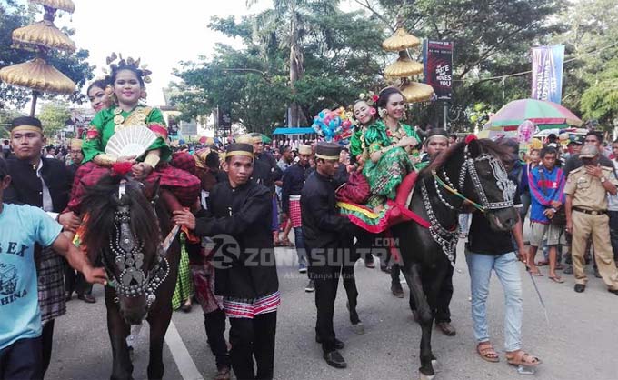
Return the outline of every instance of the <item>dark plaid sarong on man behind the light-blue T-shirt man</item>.
{"type": "Polygon", "coordinates": [[[66,313],[64,261],[50,247],[41,250],[37,261],[41,325],[66,313]]]}

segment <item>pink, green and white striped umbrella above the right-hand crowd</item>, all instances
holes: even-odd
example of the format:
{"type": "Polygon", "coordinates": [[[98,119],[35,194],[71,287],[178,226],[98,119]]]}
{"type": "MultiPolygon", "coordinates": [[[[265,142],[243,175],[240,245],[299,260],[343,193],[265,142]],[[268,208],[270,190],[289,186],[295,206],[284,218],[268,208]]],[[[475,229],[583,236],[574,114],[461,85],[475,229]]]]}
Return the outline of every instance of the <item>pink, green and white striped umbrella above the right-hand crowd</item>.
{"type": "Polygon", "coordinates": [[[562,105],[544,100],[520,99],[504,105],[489,119],[483,129],[516,130],[525,120],[532,121],[542,130],[582,125],[582,120],[562,105]]]}

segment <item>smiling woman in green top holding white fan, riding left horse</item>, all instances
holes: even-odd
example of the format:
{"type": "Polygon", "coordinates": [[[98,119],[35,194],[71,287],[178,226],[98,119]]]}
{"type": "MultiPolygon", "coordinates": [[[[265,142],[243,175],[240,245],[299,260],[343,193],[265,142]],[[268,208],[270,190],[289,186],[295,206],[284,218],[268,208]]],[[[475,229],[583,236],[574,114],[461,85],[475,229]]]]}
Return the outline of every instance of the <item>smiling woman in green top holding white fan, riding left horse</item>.
{"type": "MultiPolygon", "coordinates": [[[[115,56],[113,60],[115,61],[115,56]]],[[[102,109],[86,132],[83,165],[75,174],[69,208],[80,213],[80,203],[88,186],[111,172],[116,163],[130,163],[135,179],[154,182],[169,189],[181,205],[194,205],[200,191],[200,180],[177,167],[168,164],[172,150],[166,143],[167,128],[161,110],[140,104],[145,97],[145,82],[149,82],[149,70],[139,67],[139,60],[120,59],[111,65],[110,83],[115,105],[102,109]],[[112,157],[105,154],[107,142],[116,131],[129,125],[144,125],[157,135],[156,140],[141,157],[112,157]],[[77,179],[78,178],[78,179],[77,179]]],[[[194,162],[192,161],[194,165],[194,162]]],[[[168,202],[170,203],[170,202],[168,202]]],[[[174,206],[173,208],[178,208],[174,206]]]]}

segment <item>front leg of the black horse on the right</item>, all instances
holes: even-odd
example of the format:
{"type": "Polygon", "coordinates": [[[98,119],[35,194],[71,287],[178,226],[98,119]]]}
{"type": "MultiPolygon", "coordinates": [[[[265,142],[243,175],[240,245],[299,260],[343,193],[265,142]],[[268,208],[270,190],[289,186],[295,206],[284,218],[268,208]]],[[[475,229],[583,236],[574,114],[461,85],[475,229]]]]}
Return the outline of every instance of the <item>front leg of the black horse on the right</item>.
{"type": "Polygon", "coordinates": [[[432,361],[435,360],[432,354],[432,326],[434,325],[434,313],[430,304],[427,302],[424,293],[423,279],[421,277],[421,265],[413,263],[404,266],[405,281],[410,287],[410,295],[414,299],[416,312],[421,325],[421,367],[419,371],[425,378],[432,378],[435,374],[432,361]]]}

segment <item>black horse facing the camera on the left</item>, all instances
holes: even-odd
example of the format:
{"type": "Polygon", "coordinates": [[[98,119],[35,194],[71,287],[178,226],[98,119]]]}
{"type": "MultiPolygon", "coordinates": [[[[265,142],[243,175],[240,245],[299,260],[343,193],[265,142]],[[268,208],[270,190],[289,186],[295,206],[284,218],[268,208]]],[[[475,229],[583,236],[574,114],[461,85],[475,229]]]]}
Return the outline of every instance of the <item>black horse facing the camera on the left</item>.
{"type": "Polygon", "coordinates": [[[162,236],[174,225],[158,194],[158,183],[105,176],[88,189],[83,201],[83,243],[92,262],[100,260],[105,266],[110,284],[105,286],[105,305],[112,379],[132,378],[126,336],[130,325],[144,319],[150,325],[148,378],[161,379],[164,374],[163,345],[172,318],[180,245],[174,239],[167,252],[162,249],[162,236]]]}

